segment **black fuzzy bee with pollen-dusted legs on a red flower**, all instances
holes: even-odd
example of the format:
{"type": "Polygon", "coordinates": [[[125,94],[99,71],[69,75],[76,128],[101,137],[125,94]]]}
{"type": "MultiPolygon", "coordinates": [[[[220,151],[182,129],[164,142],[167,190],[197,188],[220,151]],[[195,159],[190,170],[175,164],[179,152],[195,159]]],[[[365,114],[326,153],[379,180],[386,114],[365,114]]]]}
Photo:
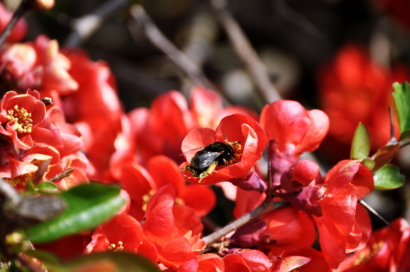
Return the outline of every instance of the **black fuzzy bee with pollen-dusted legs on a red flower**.
{"type": "Polygon", "coordinates": [[[226,143],[215,142],[180,154],[180,156],[182,156],[196,152],[195,156],[189,162],[189,165],[185,166],[182,171],[189,170],[193,177],[200,178],[200,182],[204,177],[210,175],[215,170],[216,165],[219,167],[227,166],[235,161],[232,147],[241,142],[230,144],[226,135],[225,139],[226,143]]]}

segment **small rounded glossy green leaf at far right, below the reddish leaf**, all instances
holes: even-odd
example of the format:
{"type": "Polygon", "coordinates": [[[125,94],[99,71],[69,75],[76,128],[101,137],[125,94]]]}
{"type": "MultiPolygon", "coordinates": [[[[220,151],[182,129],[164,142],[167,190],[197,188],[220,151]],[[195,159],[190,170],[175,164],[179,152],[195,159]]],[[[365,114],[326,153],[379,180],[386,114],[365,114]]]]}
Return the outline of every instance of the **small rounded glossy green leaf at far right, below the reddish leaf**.
{"type": "Polygon", "coordinates": [[[396,165],[388,164],[374,172],[374,188],[377,190],[392,190],[403,186],[404,175],[396,165]]]}

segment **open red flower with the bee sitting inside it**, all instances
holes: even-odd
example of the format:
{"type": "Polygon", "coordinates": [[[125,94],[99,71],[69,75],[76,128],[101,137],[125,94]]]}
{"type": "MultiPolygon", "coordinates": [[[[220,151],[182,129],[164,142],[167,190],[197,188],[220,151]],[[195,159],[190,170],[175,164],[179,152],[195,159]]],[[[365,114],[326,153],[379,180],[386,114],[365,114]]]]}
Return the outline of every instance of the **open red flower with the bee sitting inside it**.
{"type": "MultiPolygon", "coordinates": [[[[221,120],[216,131],[209,128],[198,128],[190,131],[182,142],[182,151],[204,147],[217,141],[223,142],[225,141],[224,133],[229,142],[241,142],[233,146],[237,163],[226,167],[216,166],[212,174],[202,179],[192,177],[188,170],[183,171],[182,173],[188,177],[190,182],[207,185],[231,179],[247,180],[251,176],[253,165],[262,157],[265,150],[266,138],[261,125],[249,116],[239,113],[227,116],[221,120]]],[[[185,154],[185,158],[187,161],[191,161],[194,155],[195,153],[185,154]]],[[[188,162],[182,163],[180,169],[182,170],[188,164],[188,162]]]]}

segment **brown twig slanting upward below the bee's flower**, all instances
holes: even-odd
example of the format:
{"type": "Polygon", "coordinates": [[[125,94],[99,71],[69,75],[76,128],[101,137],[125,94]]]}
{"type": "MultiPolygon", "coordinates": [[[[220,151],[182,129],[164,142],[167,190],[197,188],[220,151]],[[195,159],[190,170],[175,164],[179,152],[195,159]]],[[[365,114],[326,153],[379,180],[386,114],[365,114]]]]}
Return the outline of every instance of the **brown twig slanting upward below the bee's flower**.
{"type": "Polygon", "coordinates": [[[214,233],[205,236],[202,238],[202,240],[205,241],[207,247],[215,243],[217,240],[221,239],[223,236],[227,235],[228,233],[235,231],[239,229],[240,227],[244,226],[246,223],[249,221],[258,218],[266,213],[269,213],[271,211],[275,211],[278,209],[281,209],[285,206],[288,206],[289,203],[285,203],[282,201],[278,202],[271,202],[271,203],[266,203],[264,202],[262,205],[257,207],[255,210],[251,211],[250,213],[247,213],[246,215],[242,216],[238,220],[235,220],[234,222],[226,225],[222,229],[215,231],[214,233]]]}

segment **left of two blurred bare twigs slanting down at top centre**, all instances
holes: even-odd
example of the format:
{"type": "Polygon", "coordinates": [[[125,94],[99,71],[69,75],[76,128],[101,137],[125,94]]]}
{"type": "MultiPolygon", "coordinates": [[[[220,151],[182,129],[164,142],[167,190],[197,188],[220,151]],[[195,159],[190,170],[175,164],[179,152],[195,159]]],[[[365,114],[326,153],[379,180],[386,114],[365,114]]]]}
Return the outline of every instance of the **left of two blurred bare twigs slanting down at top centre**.
{"type": "Polygon", "coordinates": [[[215,88],[214,84],[205,77],[196,64],[179,50],[153,22],[145,11],[144,7],[135,4],[130,9],[131,16],[141,25],[148,39],[169,59],[171,59],[179,68],[181,68],[196,85],[217,91],[225,104],[230,104],[226,97],[215,88]]]}

